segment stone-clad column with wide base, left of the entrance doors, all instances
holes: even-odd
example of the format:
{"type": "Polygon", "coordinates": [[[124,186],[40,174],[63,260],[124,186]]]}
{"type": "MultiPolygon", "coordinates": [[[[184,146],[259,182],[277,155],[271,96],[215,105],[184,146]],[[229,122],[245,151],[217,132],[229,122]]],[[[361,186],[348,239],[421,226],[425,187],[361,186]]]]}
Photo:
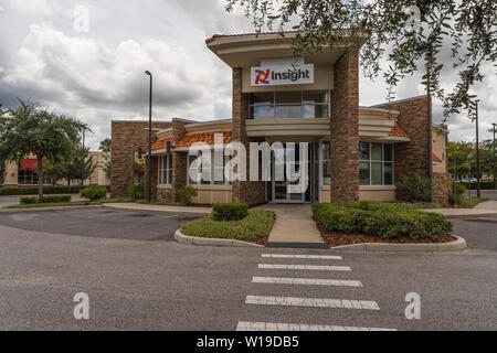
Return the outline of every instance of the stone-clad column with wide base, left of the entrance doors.
{"type": "Polygon", "coordinates": [[[233,68],[233,142],[241,142],[246,149],[247,181],[234,181],[232,186],[233,202],[245,202],[256,205],[266,201],[265,183],[252,182],[250,179],[250,138],[246,133],[248,119],[248,95],[242,93],[242,68],[233,68]]]}

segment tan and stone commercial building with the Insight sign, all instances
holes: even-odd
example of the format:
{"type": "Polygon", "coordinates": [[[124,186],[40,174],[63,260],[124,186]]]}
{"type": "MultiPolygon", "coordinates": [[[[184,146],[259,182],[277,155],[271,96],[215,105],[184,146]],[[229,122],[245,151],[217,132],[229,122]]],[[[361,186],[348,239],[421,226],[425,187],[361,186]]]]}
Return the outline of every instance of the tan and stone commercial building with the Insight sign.
{"type": "MultiPolygon", "coordinates": [[[[155,121],[151,169],[157,196],[176,201],[176,192],[190,184],[198,189],[194,202],[200,204],[389,201],[403,197],[396,182],[414,174],[429,176],[432,161],[434,201],[445,204],[451,190],[448,131],[427,124],[427,97],[360,107],[358,45],[343,44],[339,51],[325,46],[296,58],[293,35],[214,35],[207,40],[207,46],[232,68],[232,117],[207,122],[155,121]],[[247,151],[251,142],[276,146],[272,176],[285,146],[307,142],[307,156],[297,153],[297,162],[306,161],[308,188],[295,192],[289,179],[230,182],[214,178],[229,157],[209,163],[211,180],[197,181],[189,165],[200,153],[191,156],[190,147],[202,142],[214,148],[220,135],[222,142],[241,142],[247,151]]],[[[147,121],[113,121],[113,196],[125,195],[136,180],[134,164],[147,151],[147,121]]],[[[250,158],[247,152],[247,174],[250,158]]]]}

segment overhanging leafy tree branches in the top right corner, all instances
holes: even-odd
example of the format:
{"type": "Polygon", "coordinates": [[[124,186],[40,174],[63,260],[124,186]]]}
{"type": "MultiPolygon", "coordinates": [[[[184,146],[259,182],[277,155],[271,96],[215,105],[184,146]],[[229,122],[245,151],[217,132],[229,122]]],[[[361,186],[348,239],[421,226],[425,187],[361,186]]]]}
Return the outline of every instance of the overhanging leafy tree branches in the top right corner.
{"type": "MultiPolygon", "coordinates": [[[[484,64],[497,61],[497,2],[457,0],[226,0],[226,11],[235,7],[252,18],[257,33],[263,29],[296,32],[295,55],[319,52],[322,46],[337,50],[343,41],[361,47],[366,77],[376,78],[387,54],[383,76],[391,100],[398,83],[424,66],[423,84],[443,101],[445,119],[467,109],[475,113],[470,88],[484,78],[484,64]],[[440,85],[440,74],[450,50],[454,76],[453,92],[440,85]]],[[[494,64],[494,67],[497,67],[494,64]]]]}

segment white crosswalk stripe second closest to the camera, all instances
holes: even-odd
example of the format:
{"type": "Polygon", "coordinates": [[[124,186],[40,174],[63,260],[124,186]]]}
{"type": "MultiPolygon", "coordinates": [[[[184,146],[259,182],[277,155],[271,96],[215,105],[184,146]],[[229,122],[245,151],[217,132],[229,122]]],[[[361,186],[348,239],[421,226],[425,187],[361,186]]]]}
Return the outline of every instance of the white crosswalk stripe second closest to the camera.
{"type": "Polygon", "coordinates": [[[380,310],[376,301],[328,298],[246,296],[246,304],[380,310]]]}

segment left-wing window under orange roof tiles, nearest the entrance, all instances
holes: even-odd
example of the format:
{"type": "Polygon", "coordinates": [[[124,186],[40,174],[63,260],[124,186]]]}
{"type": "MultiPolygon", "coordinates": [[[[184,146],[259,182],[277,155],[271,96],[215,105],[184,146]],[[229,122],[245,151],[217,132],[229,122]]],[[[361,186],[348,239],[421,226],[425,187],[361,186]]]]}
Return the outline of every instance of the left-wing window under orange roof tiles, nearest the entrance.
{"type": "Polygon", "coordinates": [[[201,180],[198,182],[197,181],[197,175],[195,171],[193,170],[193,172],[190,170],[190,165],[197,160],[200,159],[199,161],[199,165],[198,165],[198,171],[197,173],[202,173],[202,165],[201,165],[201,161],[202,161],[202,152],[198,151],[198,154],[190,154],[188,158],[188,169],[189,169],[189,178],[188,178],[188,182],[190,185],[226,185],[226,184],[232,184],[232,182],[228,182],[225,174],[224,174],[224,167],[226,165],[228,161],[230,160],[229,156],[224,154],[224,151],[222,151],[222,158],[220,159],[219,157],[215,158],[215,153],[213,150],[211,150],[211,159],[209,161],[205,161],[205,165],[204,167],[204,175],[202,175],[201,180]]]}

